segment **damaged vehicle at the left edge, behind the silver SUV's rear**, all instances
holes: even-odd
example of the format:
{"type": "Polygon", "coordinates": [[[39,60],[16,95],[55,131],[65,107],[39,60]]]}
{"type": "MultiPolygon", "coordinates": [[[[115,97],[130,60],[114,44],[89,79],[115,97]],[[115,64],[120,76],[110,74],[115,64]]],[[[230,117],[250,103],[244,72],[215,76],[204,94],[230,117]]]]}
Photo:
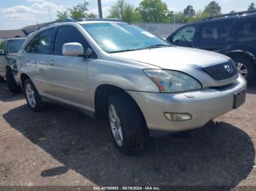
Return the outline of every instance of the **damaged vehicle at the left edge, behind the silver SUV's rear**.
{"type": "Polygon", "coordinates": [[[6,79],[7,86],[12,93],[21,91],[16,66],[17,53],[26,38],[5,39],[0,42],[0,81],[6,79]]]}

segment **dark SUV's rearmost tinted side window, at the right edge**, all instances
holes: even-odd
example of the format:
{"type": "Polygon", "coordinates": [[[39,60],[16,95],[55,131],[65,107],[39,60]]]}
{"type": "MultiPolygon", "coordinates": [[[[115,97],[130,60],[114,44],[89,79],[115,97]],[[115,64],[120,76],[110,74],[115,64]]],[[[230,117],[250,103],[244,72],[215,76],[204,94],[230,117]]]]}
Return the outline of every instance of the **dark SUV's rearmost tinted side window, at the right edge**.
{"type": "Polygon", "coordinates": [[[256,36],[256,18],[243,20],[238,27],[241,38],[250,38],[256,36]]]}

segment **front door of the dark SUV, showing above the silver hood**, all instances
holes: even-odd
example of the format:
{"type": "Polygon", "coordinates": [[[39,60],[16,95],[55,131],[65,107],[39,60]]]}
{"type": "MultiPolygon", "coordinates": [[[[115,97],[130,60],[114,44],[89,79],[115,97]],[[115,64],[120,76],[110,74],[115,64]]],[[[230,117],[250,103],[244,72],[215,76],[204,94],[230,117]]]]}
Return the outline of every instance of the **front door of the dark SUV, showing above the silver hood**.
{"type": "Polygon", "coordinates": [[[181,47],[194,47],[197,26],[185,26],[168,39],[169,42],[181,47]]]}

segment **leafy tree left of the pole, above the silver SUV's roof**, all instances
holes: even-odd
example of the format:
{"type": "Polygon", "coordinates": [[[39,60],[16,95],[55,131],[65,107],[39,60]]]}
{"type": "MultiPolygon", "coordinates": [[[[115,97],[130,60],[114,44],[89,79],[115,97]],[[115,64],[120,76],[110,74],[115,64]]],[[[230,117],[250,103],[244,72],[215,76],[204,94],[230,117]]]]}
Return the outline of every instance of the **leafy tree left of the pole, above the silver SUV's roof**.
{"type": "Polygon", "coordinates": [[[63,12],[57,12],[57,17],[59,17],[59,19],[64,19],[67,17],[71,17],[73,19],[85,18],[85,17],[97,17],[97,15],[92,14],[92,13],[89,15],[87,14],[88,5],[89,5],[89,1],[84,0],[83,4],[78,4],[75,7],[68,8],[67,10],[64,10],[63,12]]]}

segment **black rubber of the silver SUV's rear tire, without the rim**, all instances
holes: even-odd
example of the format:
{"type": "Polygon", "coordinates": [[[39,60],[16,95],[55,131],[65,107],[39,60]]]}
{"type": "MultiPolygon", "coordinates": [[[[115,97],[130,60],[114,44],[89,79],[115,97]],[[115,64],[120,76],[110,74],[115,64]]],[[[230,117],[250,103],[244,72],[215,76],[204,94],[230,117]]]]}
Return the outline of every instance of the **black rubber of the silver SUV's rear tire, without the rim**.
{"type": "Polygon", "coordinates": [[[47,104],[42,101],[41,96],[39,95],[39,93],[37,91],[37,88],[34,86],[31,79],[26,79],[25,82],[24,82],[24,95],[25,95],[26,102],[27,102],[29,108],[33,112],[41,112],[41,111],[43,111],[47,108],[47,104]],[[28,85],[30,85],[31,90],[34,91],[34,101],[35,101],[34,106],[29,103],[29,98],[28,98],[28,94],[27,94],[28,90],[26,88],[28,85]]]}

